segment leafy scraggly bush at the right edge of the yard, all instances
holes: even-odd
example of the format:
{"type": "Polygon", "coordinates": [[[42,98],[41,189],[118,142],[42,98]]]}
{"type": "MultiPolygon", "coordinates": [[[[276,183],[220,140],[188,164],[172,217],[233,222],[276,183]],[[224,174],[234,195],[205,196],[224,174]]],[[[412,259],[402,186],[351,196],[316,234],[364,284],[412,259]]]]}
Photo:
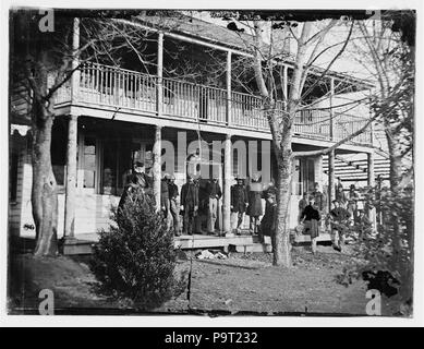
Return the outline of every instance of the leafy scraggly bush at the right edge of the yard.
{"type": "Polygon", "coordinates": [[[401,300],[408,303],[413,293],[413,189],[368,190],[363,196],[366,205],[377,208],[381,221],[377,221],[376,231],[366,227],[361,229],[361,226],[350,227],[348,234],[358,239],[353,245],[354,258],[344,268],[339,281],[347,285],[346,280],[352,276],[363,277],[364,273],[376,276],[378,280],[378,275],[387,275],[388,281],[383,278],[381,285],[385,286],[378,289],[388,297],[399,293],[401,300]],[[386,284],[388,288],[396,288],[397,292],[385,292],[386,284]]]}

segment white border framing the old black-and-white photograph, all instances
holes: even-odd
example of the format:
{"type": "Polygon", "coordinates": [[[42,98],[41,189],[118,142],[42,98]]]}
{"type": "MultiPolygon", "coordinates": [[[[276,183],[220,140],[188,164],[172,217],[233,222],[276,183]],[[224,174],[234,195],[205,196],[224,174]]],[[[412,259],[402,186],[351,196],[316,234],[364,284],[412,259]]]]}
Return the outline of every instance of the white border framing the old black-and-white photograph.
{"type": "MultiPolygon", "coordinates": [[[[305,1],[305,0],[284,0],[281,1],[252,1],[252,0],[216,0],[213,3],[204,1],[182,1],[172,2],[172,8],[175,9],[257,9],[258,4],[261,9],[416,9],[417,10],[417,37],[416,37],[416,111],[415,111],[415,135],[416,135],[416,158],[415,158],[415,178],[416,180],[416,206],[415,213],[422,213],[422,198],[423,188],[420,180],[422,173],[422,146],[423,139],[419,135],[423,131],[421,112],[423,111],[423,4],[420,0],[355,0],[343,1],[340,0],[325,0],[325,1],[305,1]],[[371,5],[372,3],[372,5],[371,5]],[[318,5],[318,7],[317,7],[318,5]]],[[[421,225],[415,222],[415,282],[414,282],[414,317],[413,318],[392,318],[392,317],[256,317],[256,316],[237,316],[237,317],[217,317],[209,318],[206,316],[26,316],[26,315],[7,315],[5,309],[5,286],[7,286],[7,238],[8,238],[8,64],[9,64],[9,8],[11,7],[35,7],[35,8],[116,8],[116,9],[131,9],[131,8],[145,8],[145,9],[167,9],[170,7],[169,0],[120,0],[106,1],[106,0],[2,0],[0,2],[1,8],[1,120],[0,120],[0,134],[1,144],[1,192],[0,192],[0,326],[249,326],[249,327],[263,327],[263,326],[424,326],[424,280],[423,280],[423,267],[424,267],[424,254],[423,254],[423,232],[421,231],[421,225]]],[[[415,217],[419,217],[417,215],[415,217]]]]}

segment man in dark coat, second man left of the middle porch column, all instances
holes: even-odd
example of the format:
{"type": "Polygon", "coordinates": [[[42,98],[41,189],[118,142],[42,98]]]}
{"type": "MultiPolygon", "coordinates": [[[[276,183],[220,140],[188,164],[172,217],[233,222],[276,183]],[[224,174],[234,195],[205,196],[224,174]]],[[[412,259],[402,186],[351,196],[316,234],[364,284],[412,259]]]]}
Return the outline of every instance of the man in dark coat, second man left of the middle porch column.
{"type": "Polygon", "coordinates": [[[183,232],[193,234],[194,217],[198,209],[198,186],[194,183],[192,176],[181,188],[181,210],[184,212],[183,232]]]}

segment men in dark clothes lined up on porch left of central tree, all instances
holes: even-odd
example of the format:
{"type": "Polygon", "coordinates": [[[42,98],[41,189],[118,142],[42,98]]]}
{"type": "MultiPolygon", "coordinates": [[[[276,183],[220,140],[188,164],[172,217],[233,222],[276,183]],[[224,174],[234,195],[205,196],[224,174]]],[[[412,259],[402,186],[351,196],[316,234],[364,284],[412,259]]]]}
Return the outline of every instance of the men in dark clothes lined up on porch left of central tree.
{"type": "MultiPolygon", "coordinates": [[[[251,183],[245,185],[245,179],[237,178],[237,183],[231,186],[231,226],[237,234],[241,234],[245,214],[250,216],[250,233],[259,237],[270,236],[275,229],[276,188],[271,182],[264,190],[259,179],[259,176],[253,176],[251,183]],[[266,202],[265,214],[263,198],[266,202]]],[[[126,185],[119,203],[121,209],[129,193],[136,188],[143,193],[153,192],[153,178],[146,173],[145,166],[141,161],[134,164],[132,173],[126,178],[126,185]]],[[[165,174],[160,183],[161,212],[168,229],[175,236],[215,234],[221,197],[222,191],[216,177],[211,180],[203,180],[189,173],[181,192],[173,174],[165,174]]]]}

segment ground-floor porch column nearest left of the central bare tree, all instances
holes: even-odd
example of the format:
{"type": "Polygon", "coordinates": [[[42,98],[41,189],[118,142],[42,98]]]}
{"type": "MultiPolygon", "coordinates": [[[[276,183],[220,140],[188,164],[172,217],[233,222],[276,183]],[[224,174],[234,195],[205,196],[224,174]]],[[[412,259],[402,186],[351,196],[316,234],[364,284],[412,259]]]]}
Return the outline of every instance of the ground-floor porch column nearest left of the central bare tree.
{"type": "Polygon", "coordinates": [[[223,205],[222,230],[231,232],[231,135],[226,135],[223,148],[223,205]]]}

